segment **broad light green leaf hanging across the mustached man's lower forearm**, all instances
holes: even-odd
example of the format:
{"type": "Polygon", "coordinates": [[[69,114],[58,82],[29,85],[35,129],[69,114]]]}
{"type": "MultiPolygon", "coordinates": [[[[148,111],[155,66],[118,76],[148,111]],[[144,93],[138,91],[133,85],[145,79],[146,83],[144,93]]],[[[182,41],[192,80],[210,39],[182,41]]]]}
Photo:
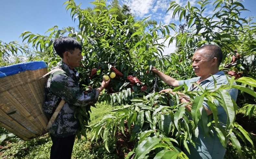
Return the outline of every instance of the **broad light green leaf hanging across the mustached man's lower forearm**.
{"type": "Polygon", "coordinates": [[[194,127],[193,127],[194,130],[197,127],[197,123],[199,119],[201,119],[200,108],[203,107],[203,102],[204,102],[204,96],[197,96],[193,100],[191,114],[192,114],[192,119],[194,121],[194,127]]]}

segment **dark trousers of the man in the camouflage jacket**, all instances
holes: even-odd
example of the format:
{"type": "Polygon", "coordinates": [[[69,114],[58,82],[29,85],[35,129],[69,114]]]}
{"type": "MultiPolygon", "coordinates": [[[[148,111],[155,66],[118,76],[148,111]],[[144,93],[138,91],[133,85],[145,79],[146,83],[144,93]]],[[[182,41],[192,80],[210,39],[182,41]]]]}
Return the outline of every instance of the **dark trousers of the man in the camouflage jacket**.
{"type": "Polygon", "coordinates": [[[76,134],[64,138],[54,137],[52,134],[50,136],[52,139],[50,159],[71,159],[76,134]]]}

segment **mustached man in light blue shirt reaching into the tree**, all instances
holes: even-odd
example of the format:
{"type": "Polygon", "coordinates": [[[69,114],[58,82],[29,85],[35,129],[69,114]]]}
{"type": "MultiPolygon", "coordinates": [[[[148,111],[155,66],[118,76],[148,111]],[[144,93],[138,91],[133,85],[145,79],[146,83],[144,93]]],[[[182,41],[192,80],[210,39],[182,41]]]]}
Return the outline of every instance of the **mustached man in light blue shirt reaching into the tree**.
{"type": "MultiPolygon", "coordinates": [[[[196,85],[193,85],[192,82],[201,85],[204,89],[207,87],[208,89],[214,89],[214,79],[215,78],[217,85],[216,88],[219,88],[222,84],[227,84],[228,80],[223,71],[219,71],[219,65],[222,61],[222,51],[221,48],[217,45],[204,45],[197,49],[192,57],[192,67],[195,72],[195,75],[198,77],[194,77],[188,80],[175,80],[174,78],[158,71],[155,67],[152,67],[151,71],[158,74],[167,84],[172,87],[177,87],[183,85],[184,83],[188,86],[188,91],[198,90],[199,88],[196,85]],[[212,77],[212,75],[213,77],[212,77]]],[[[234,83],[235,84],[235,83],[234,83]]],[[[227,90],[229,95],[236,101],[238,90],[230,89],[227,90]]],[[[176,92],[172,92],[172,89],[164,89],[160,91],[162,92],[170,92],[175,95],[176,92]]],[[[189,97],[180,94],[180,102],[182,103],[190,103],[189,97]]],[[[203,103],[204,108],[206,110],[207,115],[212,114],[211,108],[207,105],[206,102],[203,103]]],[[[191,112],[192,104],[185,106],[187,110],[191,112]]],[[[217,107],[218,110],[218,119],[219,122],[227,124],[227,114],[223,107],[217,107]]],[[[197,139],[194,137],[196,142],[196,147],[192,144],[188,144],[190,154],[184,150],[186,155],[190,159],[221,159],[224,158],[226,149],[221,144],[216,131],[214,131],[214,137],[210,135],[210,138],[204,136],[203,130],[200,126],[198,126],[199,135],[197,139]]]]}

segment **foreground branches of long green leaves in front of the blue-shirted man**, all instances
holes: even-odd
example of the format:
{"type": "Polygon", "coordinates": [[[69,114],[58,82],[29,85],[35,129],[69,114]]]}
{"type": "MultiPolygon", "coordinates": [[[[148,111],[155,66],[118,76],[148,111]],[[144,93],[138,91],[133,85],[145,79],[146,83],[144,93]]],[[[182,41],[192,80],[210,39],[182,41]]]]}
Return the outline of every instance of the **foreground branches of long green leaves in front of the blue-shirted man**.
{"type": "MultiPolygon", "coordinates": [[[[239,155],[242,156],[241,146],[236,135],[243,139],[244,142],[245,137],[252,146],[253,142],[250,139],[249,133],[235,122],[238,107],[226,89],[238,88],[245,90],[253,96],[256,93],[249,91],[246,87],[233,85],[232,79],[230,81],[231,83],[222,85],[218,89],[193,92],[187,91],[186,89],[183,90],[183,94],[189,96],[192,101],[191,113],[184,107],[187,103],[179,103],[179,100],[176,100],[177,97],[172,94],[166,96],[155,93],[144,96],[143,98],[133,98],[131,105],[115,109],[113,110],[116,112],[115,115],[106,115],[101,121],[91,125],[91,132],[94,135],[92,140],[97,139],[101,131],[103,131],[103,126],[106,126],[103,139],[105,147],[108,150],[108,133],[112,132],[115,134],[116,131],[122,131],[124,134],[124,121],[127,120],[129,130],[133,125],[130,141],[136,141],[135,148],[132,151],[133,153],[130,153],[130,156],[134,154],[135,159],[144,158],[145,156],[162,157],[169,152],[172,156],[175,156],[174,158],[186,158],[186,155],[180,151],[181,146],[183,144],[189,152],[187,141],[195,145],[192,135],[198,136],[196,128],[199,125],[206,137],[209,137],[212,130],[215,130],[224,147],[226,147],[228,138],[230,138],[232,145],[237,149],[239,155]],[[213,112],[208,118],[202,105],[204,98],[207,99],[207,104],[212,108],[213,112]],[[217,99],[220,106],[225,109],[228,115],[227,125],[218,122],[218,111],[215,108],[217,106],[214,99],[217,99]],[[193,120],[190,120],[191,117],[193,120]]],[[[239,81],[248,83],[244,77],[240,78],[239,81]]],[[[250,83],[250,85],[254,84],[256,83],[250,83]]]]}

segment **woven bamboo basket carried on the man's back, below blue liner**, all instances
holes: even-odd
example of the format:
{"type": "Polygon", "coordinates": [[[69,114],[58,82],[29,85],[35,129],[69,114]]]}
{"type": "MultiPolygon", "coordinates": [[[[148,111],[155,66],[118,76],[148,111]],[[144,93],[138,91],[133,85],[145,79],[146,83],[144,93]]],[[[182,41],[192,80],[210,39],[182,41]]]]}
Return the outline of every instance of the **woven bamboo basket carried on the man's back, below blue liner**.
{"type": "Polygon", "coordinates": [[[47,68],[28,70],[0,78],[0,125],[28,141],[47,133],[42,110],[47,68]]]}

